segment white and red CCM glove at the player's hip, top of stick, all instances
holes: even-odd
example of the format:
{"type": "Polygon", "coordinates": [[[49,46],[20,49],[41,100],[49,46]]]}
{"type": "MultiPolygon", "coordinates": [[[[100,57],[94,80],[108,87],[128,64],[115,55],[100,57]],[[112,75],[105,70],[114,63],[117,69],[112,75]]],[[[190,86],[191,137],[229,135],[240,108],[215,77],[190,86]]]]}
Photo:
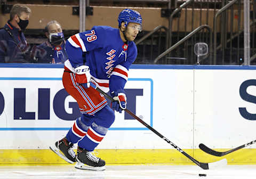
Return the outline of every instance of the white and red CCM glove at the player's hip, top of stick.
{"type": "Polygon", "coordinates": [[[90,87],[91,74],[88,66],[79,66],[76,70],[76,83],[83,85],[85,88],[90,87]]]}

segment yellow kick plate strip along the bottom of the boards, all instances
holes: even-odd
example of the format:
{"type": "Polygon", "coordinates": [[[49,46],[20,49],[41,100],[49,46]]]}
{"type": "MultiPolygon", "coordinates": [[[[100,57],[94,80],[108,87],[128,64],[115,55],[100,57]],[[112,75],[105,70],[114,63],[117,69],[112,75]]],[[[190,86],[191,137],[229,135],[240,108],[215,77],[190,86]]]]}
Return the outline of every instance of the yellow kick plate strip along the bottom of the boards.
{"type": "MultiPolygon", "coordinates": [[[[228,149],[217,149],[226,151],[228,149]]],[[[97,149],[98,157],[104,159],[107,165],[195,165],[187,157],[175,149],[97,149]]],[[[226,158],[229,165],[256,164],[255,149],[241,149],[225,157],[214,157],[200,149],[184,150],[200,162],[214,162],[226,158]]],[[[70,165],[48,149],[0,150],[0,165],[11,164],[61,164],[70,165]]]]}

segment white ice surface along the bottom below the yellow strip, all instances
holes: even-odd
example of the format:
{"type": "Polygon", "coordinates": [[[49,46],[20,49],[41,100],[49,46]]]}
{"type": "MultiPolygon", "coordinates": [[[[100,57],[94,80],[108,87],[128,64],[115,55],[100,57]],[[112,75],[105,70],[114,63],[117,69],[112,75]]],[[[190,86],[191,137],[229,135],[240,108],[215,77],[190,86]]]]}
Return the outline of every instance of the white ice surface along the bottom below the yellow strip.
{"type": "Polygon", "coordinates": [[[227,165],[203,170],[195,165],[107,165],[104,171],[75,169],[74,165],[65,166],[0,166],[0,178],[218,178],[248,179],[256,178],[256,165],[227,165]],[[206,174],[207,176],[198,176],[206,174]]]}

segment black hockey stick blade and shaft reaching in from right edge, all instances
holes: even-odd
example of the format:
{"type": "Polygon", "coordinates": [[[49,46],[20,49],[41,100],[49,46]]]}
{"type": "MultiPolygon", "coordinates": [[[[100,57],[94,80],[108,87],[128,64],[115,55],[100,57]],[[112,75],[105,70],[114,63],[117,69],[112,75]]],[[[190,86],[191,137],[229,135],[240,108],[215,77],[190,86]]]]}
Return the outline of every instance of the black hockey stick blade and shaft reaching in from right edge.
{"type": "Polygon", "coordinates": [[[199,144],[199,148],[200,148],[201,150],[203,150],[204,152],[209,153],[209,154],[211,154],[211,155],[213,155],[213,156],[221,157],[221,156],[225,156],[226,154],[229,154],[229,153],[231,153],[231,152],[235,152],[235,151],[237,151],[237,150],[239,150],[239,149],[245,148],[245,147],[247,147],[247,146],[249,146],[249,145],[251,145],[251,144],[254,144],[255,142],[256,142],[256,140],[251,141],[251,142],[249,142],[249,143],[243,144],[243,145],[241,145],[241,146],[239,146],[239,147],[237,147],[237,148],[228,150],[228,151],[226,151],[226,152],[218,152],[218,151],[212,150],[212,149],[210,149],[209,147],[207,147],[205,144],[202,144],[202,143],[199,144]]]}

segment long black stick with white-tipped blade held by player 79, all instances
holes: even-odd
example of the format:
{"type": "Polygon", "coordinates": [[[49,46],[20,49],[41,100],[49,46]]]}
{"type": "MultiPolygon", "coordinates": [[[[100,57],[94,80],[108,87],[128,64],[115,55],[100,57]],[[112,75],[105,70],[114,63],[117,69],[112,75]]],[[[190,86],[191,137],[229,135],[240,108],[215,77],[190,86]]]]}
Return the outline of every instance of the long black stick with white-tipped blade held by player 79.
{"type": "MultiPolygon", "coordinates": [[[[111,96],[109,96],[107,93],[103,92],[102,90],[100,90],[100,88],[98,88],[97,86],[95,86],[93,83],[91,83],[91,86],[97,90],[98,92],[100,92],[101,94],[103,94],[105,97],[107,97],[111,102],[115,101],[111,96]]],[[[227,165],[227,160],[226,159],[222,159],[219,161],[215,161],[215,162],[211,162],[211,163],[202,163],[197,161],[196,159],[194,159],[193,157],[189,156],[189,154],[187,154],[185,151],[183,151],[182,149],[180,149],[177,145],[175,145],[174,143],[172,143],[170,140],[168,140],[166,137],[164,137],[162,134],[158,133],[153,127],[149,126],[147,123],[145,123],[143,120],[141,120],[139,117],[137,117],[136,115],[134,115],[133,112],[131,112],[128,109],[125,109],[125,111],[127,113],[129,113],[129,115],[131,115],[134,119],[138,120],[141,124],[143,124],[144,126],[146,126],[148,129],[150,129],[150,131],[154,132],[156,135],[158,135],[159,137],[161,137],[163,140],[165,140],[167,143],[169,143],[170,145],[172,145],[173,148],[177,149],[179,152],[181,152],[183,155],[185,155],[187,158],[189,158],[191,161],[193,161],[196,165],[198,165],[199,167],[203,168],[203,169],[209,169],[209,167],[214,167],[214,166],[219,166],[219,165],[227,165]]]]}

